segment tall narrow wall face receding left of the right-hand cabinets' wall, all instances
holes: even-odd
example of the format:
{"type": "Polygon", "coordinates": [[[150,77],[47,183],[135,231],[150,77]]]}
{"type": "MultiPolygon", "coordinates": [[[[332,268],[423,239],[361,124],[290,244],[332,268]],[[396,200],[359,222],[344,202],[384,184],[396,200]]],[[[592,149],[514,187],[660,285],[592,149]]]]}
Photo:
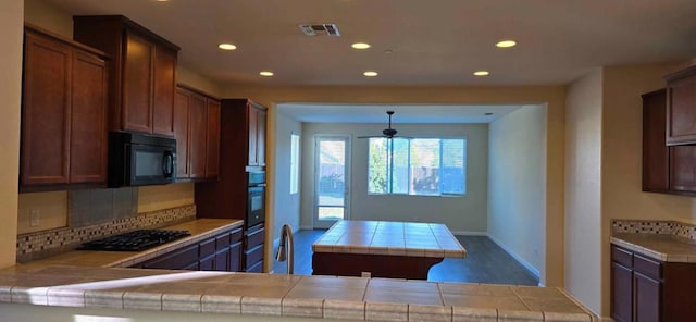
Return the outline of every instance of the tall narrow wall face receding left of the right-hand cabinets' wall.
{"type": "Polygon", "coordinates": [[[566,110],[566,289],[595,313],[601,302],[602,70],[571,84],[566,110]]]}

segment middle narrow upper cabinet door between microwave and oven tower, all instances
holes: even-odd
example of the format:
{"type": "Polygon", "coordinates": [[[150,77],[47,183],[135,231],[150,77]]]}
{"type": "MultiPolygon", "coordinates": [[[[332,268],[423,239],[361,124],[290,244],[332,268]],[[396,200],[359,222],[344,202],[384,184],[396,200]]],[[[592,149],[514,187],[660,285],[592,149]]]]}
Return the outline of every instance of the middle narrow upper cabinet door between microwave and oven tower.
{"type": "Polygon", "coordinates": [[[192,178],[206,176],[206,126],[208,125],[208,108],[206,98],[191,94],[189,106],[189,173],[192,178]]]}

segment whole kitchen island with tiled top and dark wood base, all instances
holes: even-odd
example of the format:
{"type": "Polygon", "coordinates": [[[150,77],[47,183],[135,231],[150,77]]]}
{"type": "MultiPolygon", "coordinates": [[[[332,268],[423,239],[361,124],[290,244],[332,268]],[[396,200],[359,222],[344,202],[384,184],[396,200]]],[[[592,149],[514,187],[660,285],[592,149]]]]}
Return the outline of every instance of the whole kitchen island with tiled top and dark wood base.
{"type": "Polygon", "coordinates": [[[444,258],[467,250],[444,224],[386,221],[335,223],[312,244],[312,274],[427,280],[444,258]]]}

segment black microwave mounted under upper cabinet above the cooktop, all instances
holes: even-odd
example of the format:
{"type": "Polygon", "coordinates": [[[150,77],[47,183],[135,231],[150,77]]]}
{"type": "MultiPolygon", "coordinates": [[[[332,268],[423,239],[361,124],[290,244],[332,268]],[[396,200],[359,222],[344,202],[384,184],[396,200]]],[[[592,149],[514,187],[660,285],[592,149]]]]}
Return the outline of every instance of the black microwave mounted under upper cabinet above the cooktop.
{"type": "Polygon", "coordinates": [[[176,181],[176,139],[130,132],[109,133],[109,187],[176,181]]]}

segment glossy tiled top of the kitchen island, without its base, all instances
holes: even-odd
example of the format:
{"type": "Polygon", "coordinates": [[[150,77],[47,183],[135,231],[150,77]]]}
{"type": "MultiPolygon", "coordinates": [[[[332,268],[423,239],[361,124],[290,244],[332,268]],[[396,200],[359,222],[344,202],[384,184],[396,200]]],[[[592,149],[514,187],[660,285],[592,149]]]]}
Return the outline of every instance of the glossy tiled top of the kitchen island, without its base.
{"type": "Polygon", "coordinates": [[[464,258],[467,250],[444,224],[387,221],[336,222],[312,244],[314,252],[464,258]]]}

